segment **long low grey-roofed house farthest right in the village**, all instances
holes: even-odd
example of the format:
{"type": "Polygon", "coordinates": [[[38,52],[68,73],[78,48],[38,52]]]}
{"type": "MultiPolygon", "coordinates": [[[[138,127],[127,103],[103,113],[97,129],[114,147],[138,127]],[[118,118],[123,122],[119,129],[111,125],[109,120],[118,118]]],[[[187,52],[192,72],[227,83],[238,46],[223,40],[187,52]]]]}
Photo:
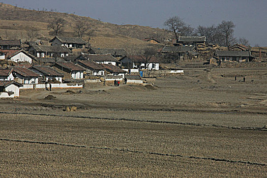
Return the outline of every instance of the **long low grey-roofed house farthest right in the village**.
{"type": "Polygon", "coordinates": [[[250,51],[215,51],[214,55],[220,61],[250,62],[253,57],[250,51]]]}

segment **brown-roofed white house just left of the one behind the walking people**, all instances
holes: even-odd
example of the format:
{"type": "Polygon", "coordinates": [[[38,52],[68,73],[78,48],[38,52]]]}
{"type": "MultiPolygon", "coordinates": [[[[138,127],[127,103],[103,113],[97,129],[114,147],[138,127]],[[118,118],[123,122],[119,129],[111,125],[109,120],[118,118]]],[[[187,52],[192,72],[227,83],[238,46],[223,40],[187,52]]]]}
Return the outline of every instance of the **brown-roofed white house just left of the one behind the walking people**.
{"type": "Polygon", "coordinates": [[[104,75],[105,68],[94,61],[77,61],[77,64],[86,69],[86,73],[90,75],[104,75]]]}

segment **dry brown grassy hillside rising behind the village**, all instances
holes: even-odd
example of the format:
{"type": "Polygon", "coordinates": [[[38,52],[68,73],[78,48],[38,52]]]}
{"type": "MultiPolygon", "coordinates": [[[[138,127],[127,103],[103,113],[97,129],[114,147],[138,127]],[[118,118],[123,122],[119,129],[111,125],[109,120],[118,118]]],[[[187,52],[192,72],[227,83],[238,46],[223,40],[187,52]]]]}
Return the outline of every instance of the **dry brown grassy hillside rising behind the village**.
{"type": "MultiPolygon", "coordinates": [[[[66,28],[63,36],[76,36],[73,26],[77,20],[86,21],[95,31],[91,39],[93,47],[101,48],[125,48],[128,52],[144,48],[149,43],[142,41],[143,38],[154,37],[158,39],[171,38],[171,34],[164,29],[151,28],[139,25],[116,25],[102,22],[90,17],[81,17],[74,14],[28,10],[0,3],[0,37],[3,39],[27,39],[28,29],[38,31],[39,36],[35,39],[48,44],[52,39],[51,32],[47,29],[49,21],[55,17],[66,20],[66,28]]],[[[84,39],[87,37],[84,36],[84,39]]]]}

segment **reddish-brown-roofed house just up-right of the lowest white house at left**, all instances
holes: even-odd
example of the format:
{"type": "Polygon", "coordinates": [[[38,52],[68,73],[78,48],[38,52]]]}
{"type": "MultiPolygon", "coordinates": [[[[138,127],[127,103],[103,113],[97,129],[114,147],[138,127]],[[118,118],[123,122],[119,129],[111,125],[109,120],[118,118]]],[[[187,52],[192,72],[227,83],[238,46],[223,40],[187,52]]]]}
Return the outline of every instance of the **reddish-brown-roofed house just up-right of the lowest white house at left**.
{"type": "Polygon", "coordinates": [[[22,84],[38,84],[39,74],[24,67],[11,67],[13,75],[18,83],[22,84]]]}

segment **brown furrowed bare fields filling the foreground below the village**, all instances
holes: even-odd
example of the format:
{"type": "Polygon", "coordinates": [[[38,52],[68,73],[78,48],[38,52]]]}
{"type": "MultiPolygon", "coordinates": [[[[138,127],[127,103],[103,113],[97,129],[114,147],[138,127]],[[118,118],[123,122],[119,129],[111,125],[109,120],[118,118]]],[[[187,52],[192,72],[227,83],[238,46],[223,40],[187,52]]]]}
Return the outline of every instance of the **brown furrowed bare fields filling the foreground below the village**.
{"type": "Polygon", "coordinates": [[[184,70],[1,100],[0,177],[266,177],[267,68],[184,70]]]}

